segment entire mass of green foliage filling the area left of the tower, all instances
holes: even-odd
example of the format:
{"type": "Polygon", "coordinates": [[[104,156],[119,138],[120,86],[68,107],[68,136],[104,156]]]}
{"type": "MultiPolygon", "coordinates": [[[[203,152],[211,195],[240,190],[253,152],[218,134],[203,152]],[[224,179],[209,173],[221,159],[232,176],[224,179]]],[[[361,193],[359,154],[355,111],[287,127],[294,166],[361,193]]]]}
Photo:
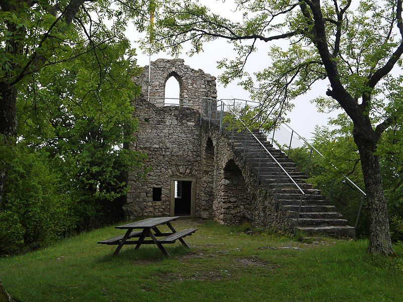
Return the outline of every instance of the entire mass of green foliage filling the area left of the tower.
{"type": "Polygon", "coordinates": [[[0,253],[122,219],[128,170],[135,179],[147,171],[130,149],[139,69],[124,31],[130,19],[144,28],[148,5],[75,3],[1,5],[0,83],[17,89],[18,127],[14,143],[0,145],[2,223],[16,222],[0,253]]]}

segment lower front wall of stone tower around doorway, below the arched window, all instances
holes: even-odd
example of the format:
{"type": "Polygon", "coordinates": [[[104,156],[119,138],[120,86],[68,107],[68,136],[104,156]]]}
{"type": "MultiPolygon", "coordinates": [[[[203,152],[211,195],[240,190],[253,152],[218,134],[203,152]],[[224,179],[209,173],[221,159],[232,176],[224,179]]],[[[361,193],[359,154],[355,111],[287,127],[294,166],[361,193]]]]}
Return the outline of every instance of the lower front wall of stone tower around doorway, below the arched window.
{"type": "Polygon", "coordinates": [[[136,103],[136,116],[139,127],[133,147],[147,154],[151,171],[137,182],[129,173],[124,209],[128,217],[169,216],[172,177],[197,178],[199,174],[200,115],[190,108],[157,107],[143,100],[136,103]],[[152,188],[162,188],[161,201],[153,201],[152,188]]]}

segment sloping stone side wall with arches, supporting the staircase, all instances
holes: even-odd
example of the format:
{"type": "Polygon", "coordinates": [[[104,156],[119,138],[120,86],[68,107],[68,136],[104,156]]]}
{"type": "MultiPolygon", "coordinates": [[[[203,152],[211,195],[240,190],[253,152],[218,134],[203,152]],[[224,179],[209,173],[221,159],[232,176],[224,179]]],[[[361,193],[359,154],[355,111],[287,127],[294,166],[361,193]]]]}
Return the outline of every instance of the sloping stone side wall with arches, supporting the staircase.
{"type": "Polygon", "coordinates": [[[283,212],[275,211],[272,192],[263,184],[258,184],[256,172],[243,161],[242,154],[232,147],[230,137],[225,132],[220,134],[218,125],[211,124],[209,128],[207,121],[203,122],[201,128],[201,140],[208,141],[210,138],[214,144],[216,194],[212,218],[221,224],[250,221],[261,228],[290,231],[291,220],[283,212]],[[234,169],[234,165],[237,169],[234,169]],[[228,166],[232,169],[225,169],[228,166]],[[238,180],[241,190],[238,191],[235,186],[230,188],[233,180],[238,180]]]}

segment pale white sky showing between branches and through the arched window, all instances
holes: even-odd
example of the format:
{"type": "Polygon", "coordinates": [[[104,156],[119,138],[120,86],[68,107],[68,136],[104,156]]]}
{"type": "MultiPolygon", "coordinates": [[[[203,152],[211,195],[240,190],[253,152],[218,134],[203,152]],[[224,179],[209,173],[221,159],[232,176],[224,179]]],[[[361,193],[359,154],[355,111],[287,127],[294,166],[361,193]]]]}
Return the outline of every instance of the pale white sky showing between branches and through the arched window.
{"type": "MultiPolygon", "coordinates": [[[[223,17],[235,21],[240,20],[239,12],[233,12],[235,9],[233,0],[200,0],[199,2],[208,6],[214,13],[218,13],[223,17]]],[[[129,27],[126,31],[126,35],[131,41],[132,46],[137,49],[138,64],[140,66],[148,65],[149,56],[145,53],[142,53],[141,49],[138,48],[138,45],[135,42],[139,39],[139,34],[133,28],[129,27]]],[[[268,57],[267,53],[270,50],[271,45],[274,44],[259,42],[257,44],[257,51],[249,57],[245,70],[252,74],[261,68],[268,66],[270,63],[270,58],[268,57]]],[[[186,47],[184,47],[184,51],[186,51],[186,47]]],[[[204,45],[204,52],[195,54],[191,57],[186,55],[186,53],[182,53],[179,57],[183,58],[185,61],[184,63],[189,65],[191,68],[203,69],[205,72],[210,73],[218,78],[223,70],[217,68],[217,61],[223,58],[235,58],[235,55],[236,53],[231,44],[227,43],[225,40],[216,40],[206,43],[204,45]]],[[[172,57],[163,52],[153,54],[151,56],[152,61],[158,58],[172,57]]],[[[175,92],[177,89],[176,87],[175,85],[173,85],[173,87],[167,85],[166,97],[177,97],[178,93],[175,92]]],[[[310,138],[316,125],[326,125],[328,118],[335,117],[337,114],[342,112],[333,111],[331,113],[319,113],[315,104],[311,103],[311,100],[314,98],[324,96],[326,90],[327,82],[316,83],[316,85],[314,85],[307,94],[298,97],[293,102],[295,106],[293,110],[287,114],[287,117],[290,119],[289,125],[300,135],[310,138]]],[[[231,83],[227,87],[224,87],[217,80],[217,91],[218,99],[250,99],[249,93],[239,87],[237,83],[231,83]]],[[[284,137],[284,139],[287,140],[289,138],[284,137]]]]}

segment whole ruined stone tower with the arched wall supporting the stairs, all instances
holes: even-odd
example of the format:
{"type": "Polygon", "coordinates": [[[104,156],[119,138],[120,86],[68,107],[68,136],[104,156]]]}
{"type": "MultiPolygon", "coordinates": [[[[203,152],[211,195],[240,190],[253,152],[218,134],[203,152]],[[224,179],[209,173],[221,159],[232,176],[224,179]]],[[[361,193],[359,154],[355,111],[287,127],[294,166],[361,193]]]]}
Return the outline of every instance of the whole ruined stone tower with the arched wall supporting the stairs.
{"type": "MultiPolygon", "coordinates": [[[[123,206],[127,218],[181,215],[215,219],[222,224],[250,221],[255,226],[291,230],[297,213],[296,202],[283,200],[284,204],[279,206],[273,186],[258,179],[253,159],[245,160],[233,135],[228,131],[220,133],[219,125],[210,124],[206,118],[208,100],[213,100],[210,108],[217,105],[215,80],[203,70],[185,65],[182,59],[157,59],[151,63],[150,98],[149,67],[143,67],[143,72],[135,79],[141,86],[141,94],[133,101],[139,125],[131,148],[148,155],[147,165],[151,171],[144,179],[129,173],[130,189],[123,206]],[[175,77],[179,83],[179,106],[164,103],[165,84],[170,77],[175,77]]],[[[273,147],[269,145],[267,147],[273,147]]],[[[290,162],[280,150],[273,149],[273,152],[290,162]]],[[[295,167],[295,164],[289,163],[289,166],[295,167]]],[[[279,168],[267,166],[266,169],[270,174],[279,168]]],[[[292,173],[302,181],[302,173],[298,170],[292,173]]],[[[283,193],[290,191],[288,187],[282,190],[283,193]]],[[[315,191],[309,194],[320,194],[320,190],[309,190],[315,191]]],[[[287,199],[285,196],[282,198],[287,199]]],[[[315,196],[312,206],[324,211],[315,196]]],[[[305,201],[307,207],[311,206],[310,202],[305,201]]],[[[333,213],[332,208],[325,209],[333,213]]],[[[331,228],[330,233],[345,232],[339,226],[331,228]]],[[[351,228],[346,227],[347,233],[342,235],[350,235],[351,228]]]]}

